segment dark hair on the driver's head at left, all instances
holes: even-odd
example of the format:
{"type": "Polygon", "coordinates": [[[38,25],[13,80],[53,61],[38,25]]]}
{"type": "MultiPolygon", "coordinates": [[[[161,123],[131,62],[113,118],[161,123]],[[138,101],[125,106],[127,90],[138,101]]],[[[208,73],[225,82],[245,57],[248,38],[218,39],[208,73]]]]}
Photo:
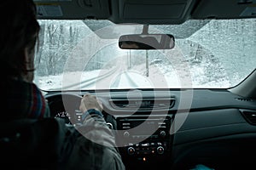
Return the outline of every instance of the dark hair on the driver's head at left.
{"type": "Polygon", "coordinates": [[[0,75],[20,77],[28,71],[24,49],[28,48],[32,52],[38,41],[40,26],[36,10],[32,0],[1,0],[0,75]]]}

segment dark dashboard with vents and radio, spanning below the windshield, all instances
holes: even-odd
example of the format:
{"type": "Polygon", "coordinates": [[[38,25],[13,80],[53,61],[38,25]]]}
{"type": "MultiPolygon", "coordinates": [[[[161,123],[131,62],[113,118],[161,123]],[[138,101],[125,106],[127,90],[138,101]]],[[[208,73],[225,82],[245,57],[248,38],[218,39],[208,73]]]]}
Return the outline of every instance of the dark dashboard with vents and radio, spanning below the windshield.
{"type": "MultiPolygon", "coordinates": [[[[86,93],[46,94],[51,116],[79,125],[80,99],[86,93]]],[[[127,169],[189,169],[197,163],[218,169],[230,163],[237,167],[234,161],[242,164],[256,157],[240,156],[256,150],[253,99],[243,99],[225,89],[89,93],[101,99],[102,114],[116,132],[127,169]]]]}

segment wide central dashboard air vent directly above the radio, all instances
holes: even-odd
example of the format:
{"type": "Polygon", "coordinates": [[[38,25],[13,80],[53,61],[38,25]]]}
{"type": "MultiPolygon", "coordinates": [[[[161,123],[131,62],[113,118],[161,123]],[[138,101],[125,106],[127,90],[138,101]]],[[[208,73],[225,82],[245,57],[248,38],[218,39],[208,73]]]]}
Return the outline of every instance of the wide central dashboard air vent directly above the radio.
{"type": "Polygon", "coordinates": [[[147,111],[171,109],[175,103],[175,99],[110,99],[109,103],[114,109],[147,111]]]}

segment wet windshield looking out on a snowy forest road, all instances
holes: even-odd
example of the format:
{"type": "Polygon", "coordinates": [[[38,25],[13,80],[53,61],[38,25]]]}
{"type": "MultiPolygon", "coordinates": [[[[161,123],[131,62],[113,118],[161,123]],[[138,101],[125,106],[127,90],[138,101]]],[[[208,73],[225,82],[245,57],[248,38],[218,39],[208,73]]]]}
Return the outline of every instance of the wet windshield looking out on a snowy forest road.
{"type": "Polygon", "coordinates": [[[189,20],[149,26],[175,48],[120,49],[142,25],[108,20],[38,20],[34,82],[42,90],[231,88],[255,69],[256,20],[189,20]]]}

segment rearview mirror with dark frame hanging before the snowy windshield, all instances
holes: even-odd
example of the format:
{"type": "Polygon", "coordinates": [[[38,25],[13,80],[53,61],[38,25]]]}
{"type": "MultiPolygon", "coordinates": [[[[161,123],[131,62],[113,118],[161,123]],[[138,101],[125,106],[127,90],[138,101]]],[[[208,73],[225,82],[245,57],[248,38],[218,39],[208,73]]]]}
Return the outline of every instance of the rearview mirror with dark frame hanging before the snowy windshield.
{"type": "Polygon", "coordinates": [[[122,49],[172,49],[175,40],[171,34],[130,34],[119,37],[122,49]]]}

